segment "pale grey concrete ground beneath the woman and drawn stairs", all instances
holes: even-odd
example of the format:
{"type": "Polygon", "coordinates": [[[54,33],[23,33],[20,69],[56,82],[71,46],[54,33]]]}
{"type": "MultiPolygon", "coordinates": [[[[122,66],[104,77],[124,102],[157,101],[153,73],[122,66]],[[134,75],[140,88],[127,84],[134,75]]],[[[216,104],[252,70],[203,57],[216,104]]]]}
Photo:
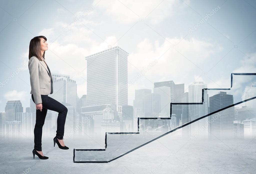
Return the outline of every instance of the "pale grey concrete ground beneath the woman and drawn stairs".
{"type": "MultiPolygon", "coordinates": [[[[70,149],[62,150],[57,145],[53,147],[52,138],[42,139],[47,160],[37,156],[33,159],[32,138],[2,138],[0,173],[255,173],[256,170],[256,138],[189,141],[168,134],[109,163],[73,163],[73,148],[78,145],[67,139],[65,144],[70,149]]],[[[83,143],[87,146],[90,142],[83,140],[83,143]]]]}

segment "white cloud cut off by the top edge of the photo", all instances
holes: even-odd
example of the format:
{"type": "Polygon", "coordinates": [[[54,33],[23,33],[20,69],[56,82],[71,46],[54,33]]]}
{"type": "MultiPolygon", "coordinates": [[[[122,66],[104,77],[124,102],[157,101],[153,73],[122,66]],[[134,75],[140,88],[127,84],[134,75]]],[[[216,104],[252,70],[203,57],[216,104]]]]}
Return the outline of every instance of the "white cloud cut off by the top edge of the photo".
{"type": "MultiPolygon", "coordinates": [[[[95,0],[92,4],[98,3],[95,0]]],[[[184,3],[189,4],[189,1],[184,1],[184,3]]],[[[105,16],[109,16],[112,20],[117,21],[121,24],[129,24],[139,21],[139,18],[145,18],[145,20],[150,20],[151,24],[158,24],[167,17],[172,16],[178,10],[182,10],[183,7],[187,7],[182,1],[101,1],[95,8],[104,10],[105,16]],[[180,5],[182,7],[179,7],[180,5]]]]}

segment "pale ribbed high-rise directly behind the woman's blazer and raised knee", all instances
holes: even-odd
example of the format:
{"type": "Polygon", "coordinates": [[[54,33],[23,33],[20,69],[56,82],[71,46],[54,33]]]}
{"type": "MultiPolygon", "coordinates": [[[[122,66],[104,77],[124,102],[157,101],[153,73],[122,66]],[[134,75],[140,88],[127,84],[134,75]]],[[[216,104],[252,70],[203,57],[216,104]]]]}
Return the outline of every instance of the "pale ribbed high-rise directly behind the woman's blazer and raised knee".
{"type": "Polygon", "coordinates": [[[54,92],[49,97],[58,102],[65,102],[76,108],[77,84],[76,81],[69,78],[68,75],[52,74],[54,79],[54,92]]]}

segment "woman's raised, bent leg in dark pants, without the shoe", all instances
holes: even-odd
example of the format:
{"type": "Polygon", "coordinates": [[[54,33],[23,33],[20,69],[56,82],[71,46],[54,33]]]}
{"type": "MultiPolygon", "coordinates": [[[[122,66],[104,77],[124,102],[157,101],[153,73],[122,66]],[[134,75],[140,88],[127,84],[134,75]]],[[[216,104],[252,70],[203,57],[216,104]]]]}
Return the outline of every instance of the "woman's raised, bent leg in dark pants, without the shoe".
{"type": "Polygon", "coordinates": [[[66,116],[68,113],[68,108],[58,102],[57,100],[47,96],[47,95],[41,95],[42,96],[42,105],[43,108],[56,111],[58,112],[58,118],[57,118],[57,131],[56,131],[56,137],[58,139],[63,139],[64,136],[64,127],[66,122],[66,116]]]}

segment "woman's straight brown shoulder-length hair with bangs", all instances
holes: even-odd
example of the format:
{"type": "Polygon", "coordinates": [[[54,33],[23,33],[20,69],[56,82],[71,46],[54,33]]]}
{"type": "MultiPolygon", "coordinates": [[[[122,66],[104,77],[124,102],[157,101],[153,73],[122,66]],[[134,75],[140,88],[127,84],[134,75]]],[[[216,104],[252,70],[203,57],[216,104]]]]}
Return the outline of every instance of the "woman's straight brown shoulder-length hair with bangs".
{"type": "Polygon", "coordinates": [[[44,38],[45,41],[47,40],[45,36],[36,36],[30,40],[28,59],[30,59],[30,57],[32,57],[32,56],[35,56],[37,59],[39,59],[41,61],[42,61],[42,57],[45,59],[45,51],[44,51],[43,56],[41,56],[40,38],[44,38]]]}

